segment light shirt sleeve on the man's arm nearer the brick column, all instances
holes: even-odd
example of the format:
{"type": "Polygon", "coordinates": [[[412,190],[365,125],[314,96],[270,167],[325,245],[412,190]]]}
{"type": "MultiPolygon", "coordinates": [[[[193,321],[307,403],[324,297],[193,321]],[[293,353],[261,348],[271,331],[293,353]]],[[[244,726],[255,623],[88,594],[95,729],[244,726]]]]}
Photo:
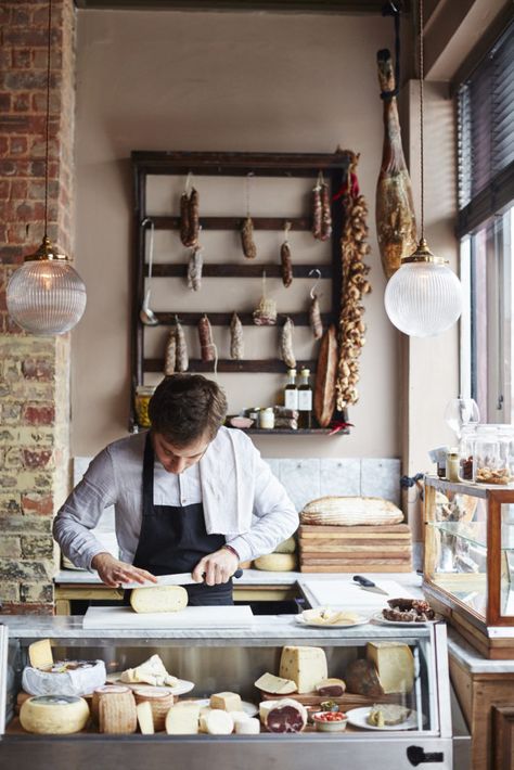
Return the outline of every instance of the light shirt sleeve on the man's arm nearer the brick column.
{"type": "Polygon", "coordinates": [[[105,546],[91,529],[116,499],[116,480],[107,447],[92,460],[53,522],[53,537],[76,567],[91,569],[92,559],[105,552],[105,546]]]}

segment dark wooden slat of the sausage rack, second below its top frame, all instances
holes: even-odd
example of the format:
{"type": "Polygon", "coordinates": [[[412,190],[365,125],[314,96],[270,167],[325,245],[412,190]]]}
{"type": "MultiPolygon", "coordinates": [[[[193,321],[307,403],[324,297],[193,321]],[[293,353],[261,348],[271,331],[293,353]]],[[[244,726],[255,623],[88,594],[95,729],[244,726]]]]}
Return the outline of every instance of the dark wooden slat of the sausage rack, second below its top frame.
{"type": "MultiPolygon", "coordinates": [[[[313,275],[309,275],[311,270],[319,270],[321,278],[332,278],[332,265],[295,265],[293,266],[293,278],[309,278],[314,280],[313,275]]],[[[239,264],[204,264],[202,277],[204,278],[262,278],[262,272],[266,272],[266,278],[282,278],[282,267],[277,262],[258,264],[245,262],[239,264]]],[[[149,265],[144,266],[144,277],[147,278],[149,265]]],[[[187,278],[188,262],[154,262],[152,267],[152,278],[187,278]]]]}

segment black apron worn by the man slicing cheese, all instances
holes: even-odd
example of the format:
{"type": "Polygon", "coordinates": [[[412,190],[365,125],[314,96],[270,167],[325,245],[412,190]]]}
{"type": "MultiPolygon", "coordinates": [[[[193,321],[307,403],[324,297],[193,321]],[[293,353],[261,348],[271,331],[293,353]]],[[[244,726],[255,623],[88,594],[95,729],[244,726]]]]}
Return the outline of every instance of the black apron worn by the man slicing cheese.
{"type": "MultiPolygon", "coordinates": [[[[153,575],[191,573],[200,560],[218,551],[224,535],[207,535],[204,506],[154,505],[154,450],[146,436],[143,461],[143,516],[133,566],[153,575]]],[[[233,604],[232,579],[218,586],[184,586],[192,606],[233,604]]]]}

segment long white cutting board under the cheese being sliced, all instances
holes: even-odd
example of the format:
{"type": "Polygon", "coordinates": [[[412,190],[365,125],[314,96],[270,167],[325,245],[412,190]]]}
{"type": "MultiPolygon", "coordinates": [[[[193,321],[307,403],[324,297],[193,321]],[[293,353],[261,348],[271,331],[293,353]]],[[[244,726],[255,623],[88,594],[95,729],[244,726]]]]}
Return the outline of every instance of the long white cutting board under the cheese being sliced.
{"type": "Polygon", "coordinates": [[[178,613],[134,613],[131,607],[89,607],[82,628],[111,630],[116,628],[240,628],[250,626],[254,614],[242,606],[185,607],[178,613]]]}

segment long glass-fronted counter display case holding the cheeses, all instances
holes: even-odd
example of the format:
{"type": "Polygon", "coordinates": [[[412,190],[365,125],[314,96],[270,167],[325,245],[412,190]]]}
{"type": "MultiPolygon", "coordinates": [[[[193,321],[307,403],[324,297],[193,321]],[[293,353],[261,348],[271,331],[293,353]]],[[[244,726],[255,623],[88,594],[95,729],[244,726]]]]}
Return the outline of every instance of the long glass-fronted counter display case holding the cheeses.
{"type": "MultiPolygon", "coordinates": [[[[69,767],[312,770],[320,763],[352,770],[373,767],[400,770],[425,767],[425,763],[446,770],[455,767],[444,624],[410,624],[408,628],[368,624],[348,629],[314,629],[301,627],[294,616],[268,616],[256,618],[252,628],[223,629],[222,636],[198,629],[99,631],[97,636],[83,630],[79,617],[0,616],[0,631],[3,631],[3,636],[0,633],[3,646],[0,767],[14,768],[23,763],[53,770],[69,767]],[[303,732],[280,734],[268,732],[265,727],[255,735],[168,735],[166,732],[107,735],[91,727],[70,735],[28,734],[22,729],[16,711],[24,695],[21,683],[28,645],[40,638],[51,639],[54,659],[100,658],[105,662],[107,671],[138,666],[158,654],[168,671],[194,683],[191,692],[180,695],[179,700],[206,698],[208,703],[213,693],[230,691],[239,693],[243,705],[253,705],[256,711],[266,697],[254,683],[265,672],[279,673],[285,645],[321,647],[326,656],[329,677],[345,679],[356,660],[370,659],[370,643],[387,643],[384,646],[389,645],[389,649],[399,644],[403,650],[409,649],[407,657],[412,658],[409,685],[395,689],[389,683],[388,694],[377,696],[363,693],[365,686],[360,693],[351,692],[348,683],[339,705],[349,720],[351,711],[368,713],[375,703],[398,704],[407,709],[408,723],[372,728],[365,718],[359,722],[356,716],[356,721],[349,721],[347,729],[337,733],[319,732],[309,720],[303,732]]],[[[384,676],[391,670],[386,668],[384,676]]],[[[364,675],[362,677],[364,681],[364,675]]],[[[287,697],[294,698],[295,694],[287,697]]],[[[296,697],[305,703],[309,713],[318,710],[316,700],[312,701],[316,694],[296,697]]],[[[464,770],[464,766],[460,766],[460,770],[464,770]]]]}

